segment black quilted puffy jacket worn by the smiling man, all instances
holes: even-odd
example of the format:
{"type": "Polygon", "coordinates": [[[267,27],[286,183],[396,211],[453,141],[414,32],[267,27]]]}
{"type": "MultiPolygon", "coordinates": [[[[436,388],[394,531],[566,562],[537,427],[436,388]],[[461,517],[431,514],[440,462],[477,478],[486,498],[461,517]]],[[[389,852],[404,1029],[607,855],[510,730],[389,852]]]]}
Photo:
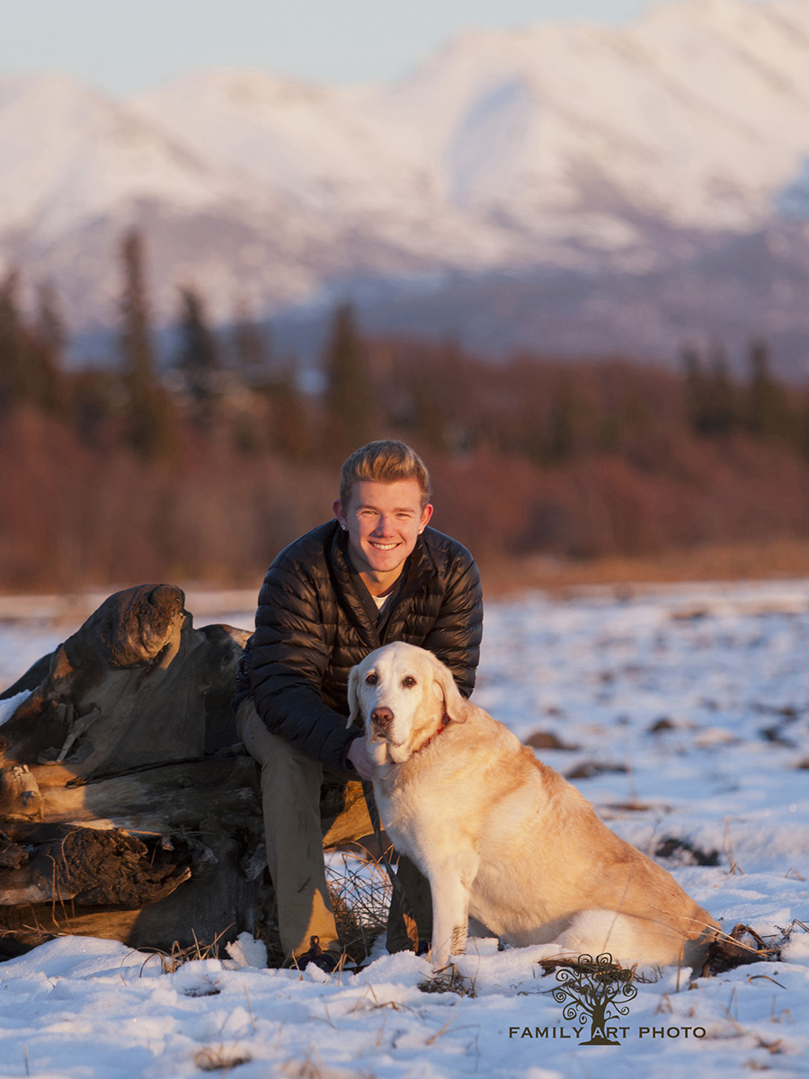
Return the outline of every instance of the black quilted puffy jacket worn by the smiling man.
{"type": "Polygon", "coordinates": [[[345,722],[352,667],[382,644],[407,641],[447,664],[468,697],[483,623],[478,568],[449,536],[424,530],[382,616],[346,545],[333,520],[278,555],[259,592],[245,664],[268,728],[335,771],[351,769],[346,753],[359,734],[345,722]]]}

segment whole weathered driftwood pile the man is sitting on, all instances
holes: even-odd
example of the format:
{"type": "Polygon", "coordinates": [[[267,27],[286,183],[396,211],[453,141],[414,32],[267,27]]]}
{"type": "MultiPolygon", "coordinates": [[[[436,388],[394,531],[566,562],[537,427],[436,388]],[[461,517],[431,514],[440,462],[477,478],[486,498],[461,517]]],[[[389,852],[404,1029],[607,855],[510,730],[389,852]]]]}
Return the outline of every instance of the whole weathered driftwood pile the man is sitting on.
{"type": "MultiPolygon", "coordinates": [[[[0,698],[0,955],[54,933],[170,948],[271,937],[257,766],[230,698],[245,630],[194,629],[173,585],[116,592],[0,698]]],[[[325,845],[368,831],[327,787],[325,845]]]]}

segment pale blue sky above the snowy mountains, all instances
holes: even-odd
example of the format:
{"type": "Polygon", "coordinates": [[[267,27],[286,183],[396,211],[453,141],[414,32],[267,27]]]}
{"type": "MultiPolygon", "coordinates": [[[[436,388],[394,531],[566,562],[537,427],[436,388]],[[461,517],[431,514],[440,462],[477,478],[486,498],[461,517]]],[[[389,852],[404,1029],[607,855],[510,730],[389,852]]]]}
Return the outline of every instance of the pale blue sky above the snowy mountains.
{"type": "Polygon", "coordinates": [[[655,0],[0,0],[0,71],[57,68],[118,94],[211,66],[393,80],[457,30],[585,18],[655,0]]]}

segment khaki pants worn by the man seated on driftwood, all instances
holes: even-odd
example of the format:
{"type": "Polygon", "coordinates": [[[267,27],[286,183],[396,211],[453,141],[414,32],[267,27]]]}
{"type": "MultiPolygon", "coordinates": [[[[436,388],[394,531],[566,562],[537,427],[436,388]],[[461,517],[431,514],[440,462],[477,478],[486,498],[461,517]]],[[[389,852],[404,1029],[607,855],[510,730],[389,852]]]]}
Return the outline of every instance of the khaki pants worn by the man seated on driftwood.
{"type": "MultiPolygon", "coordinates": [[[[326,887],[320,823],[320,787],[325,777],[332,777],[314,757],[271,734],[250,698],[238,708],[236,728],[248,752],[261,765],[266,859],[278,904],[284,955],[290,960],[307,952],[311,937],[319,937],[325,952],[339,954],[342,944],[326,887]]],[[[355,839],[371,833],[367,812],[354,827],[355,839]]],[[[419,935],[429,940],[433,931],[429,885],[413,863],[401,856],[398,875],[413,909],[419,935]]],[[[390,952],[411,946],[395,899],[390,904],[387,946],[390,952]]]]}

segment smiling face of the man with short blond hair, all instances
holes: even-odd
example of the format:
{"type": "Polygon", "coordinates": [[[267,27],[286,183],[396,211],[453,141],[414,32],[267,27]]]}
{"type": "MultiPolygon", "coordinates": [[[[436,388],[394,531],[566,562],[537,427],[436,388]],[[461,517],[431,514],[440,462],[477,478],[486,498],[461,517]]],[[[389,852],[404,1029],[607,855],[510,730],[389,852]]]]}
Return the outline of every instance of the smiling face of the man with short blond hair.
{"type": "Polygon", "coordinates": [[[334,503],[334,513],[348,532],[354,568],[379,596],[398,578],[433,506],[422,509],[422,489],[415,479],[393,483],[365,479],[355,484],[347,506],[334,503]]]}

